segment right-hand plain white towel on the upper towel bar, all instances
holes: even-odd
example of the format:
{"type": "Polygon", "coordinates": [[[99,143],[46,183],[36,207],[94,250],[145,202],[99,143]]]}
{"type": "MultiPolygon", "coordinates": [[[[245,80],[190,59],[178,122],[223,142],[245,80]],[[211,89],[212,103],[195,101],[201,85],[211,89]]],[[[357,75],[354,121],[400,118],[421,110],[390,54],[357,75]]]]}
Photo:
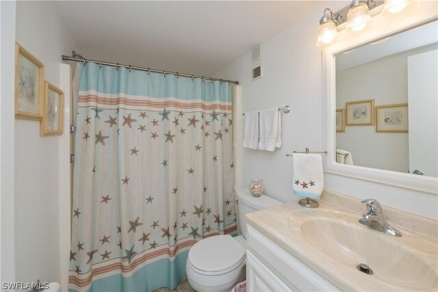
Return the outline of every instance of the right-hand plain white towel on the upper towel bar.
{"type": "Polygon", "coordinates": [[[281,147],[281,116],[278,107],[260,111],[259,129],[260,150],[274,151],[281,147]]]}

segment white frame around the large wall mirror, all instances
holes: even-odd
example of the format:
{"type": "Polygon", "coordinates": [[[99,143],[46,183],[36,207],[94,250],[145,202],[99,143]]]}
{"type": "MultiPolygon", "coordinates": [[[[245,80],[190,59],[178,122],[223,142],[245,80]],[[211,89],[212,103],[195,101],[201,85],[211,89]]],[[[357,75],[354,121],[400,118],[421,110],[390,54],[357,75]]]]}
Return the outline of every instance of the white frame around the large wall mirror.
{"type": "Polygon", "coordinates": [[[380,5],[372,10],[372,15],[376,16],[373,17],[373,21],[363,31],[350,32],[348,29],[339,31],[335,43],[324,48],[322,52],[325,107],[324,146],[328,151],[327,155],[325,155],[326,173],[438,195],[438,178],[339,164],[335,163],[334,155],[336,150],[335,55],[430,23],[431,21],[436,21],[438,19],[436,5],[435,1],[422,1],[420,5],[411,10],[400,12],[400,15],[376,15],[385,13],[382,12],[383,5],[380,5]]]}

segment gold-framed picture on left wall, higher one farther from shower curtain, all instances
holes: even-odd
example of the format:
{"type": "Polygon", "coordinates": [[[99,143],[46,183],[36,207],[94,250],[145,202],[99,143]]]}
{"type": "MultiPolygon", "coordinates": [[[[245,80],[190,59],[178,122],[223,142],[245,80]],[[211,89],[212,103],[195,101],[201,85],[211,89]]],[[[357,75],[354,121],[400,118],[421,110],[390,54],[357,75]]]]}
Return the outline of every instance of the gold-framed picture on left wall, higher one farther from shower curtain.
{"type": "Polygon", "coordinates": [[[15,118],[42,120],[44,65],[15,44],[15,118]]]}

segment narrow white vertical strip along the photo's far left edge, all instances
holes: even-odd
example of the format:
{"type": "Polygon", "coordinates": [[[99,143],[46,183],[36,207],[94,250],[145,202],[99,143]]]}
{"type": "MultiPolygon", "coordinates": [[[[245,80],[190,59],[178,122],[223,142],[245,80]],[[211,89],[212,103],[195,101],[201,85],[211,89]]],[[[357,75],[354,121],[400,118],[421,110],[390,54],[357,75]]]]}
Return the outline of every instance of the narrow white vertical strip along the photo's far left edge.
{"type": "Polygon", "coordinates": [[[1,282],[15,280],[14,240],[14,1],[0,1],[1,96],[0,96],[0,215],[1,282]]]}

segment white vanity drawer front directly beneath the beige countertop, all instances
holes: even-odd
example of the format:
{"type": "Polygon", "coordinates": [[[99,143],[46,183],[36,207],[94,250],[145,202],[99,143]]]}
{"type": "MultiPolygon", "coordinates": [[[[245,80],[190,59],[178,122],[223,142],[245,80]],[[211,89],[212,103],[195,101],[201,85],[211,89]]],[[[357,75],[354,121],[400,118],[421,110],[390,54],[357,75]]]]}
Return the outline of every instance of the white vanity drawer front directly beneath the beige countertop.
{"type": "Polygon", "coordinates": [[[340,291],[250,225],[247,225],[246,248],[248,254],[255,256],[289,288],[287,291],[340,291]]]}

